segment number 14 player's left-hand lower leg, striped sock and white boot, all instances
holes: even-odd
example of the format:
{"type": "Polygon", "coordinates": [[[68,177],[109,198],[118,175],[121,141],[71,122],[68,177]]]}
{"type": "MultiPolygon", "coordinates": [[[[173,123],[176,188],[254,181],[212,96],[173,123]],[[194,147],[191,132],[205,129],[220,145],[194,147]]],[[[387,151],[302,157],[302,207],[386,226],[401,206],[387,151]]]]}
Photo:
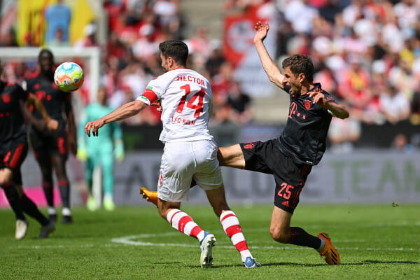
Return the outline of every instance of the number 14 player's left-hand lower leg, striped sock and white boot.
{"type": "Polygon", "coordinates": [[[202,251],[200,255],[200,265],[204,268],[212,267],[212,247],[216,242],[216,237],[211,233],[202,230],[202,228],[193,221],[193,218],[179,209],[179,207],[181,207],[181,202],[158,201],[160,216],[165,218],[172,225],[172,228],[200,241],[200,249],[202,251]]]}

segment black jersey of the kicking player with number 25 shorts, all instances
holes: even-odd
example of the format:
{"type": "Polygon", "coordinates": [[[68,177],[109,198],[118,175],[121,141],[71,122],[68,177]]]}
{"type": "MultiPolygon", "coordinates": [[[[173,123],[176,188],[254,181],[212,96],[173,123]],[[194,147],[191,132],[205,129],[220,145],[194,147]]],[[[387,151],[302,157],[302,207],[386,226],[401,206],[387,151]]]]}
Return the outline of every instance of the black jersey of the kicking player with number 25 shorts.
{"type": "MultiPolygon", "coordinates": [[[[335,102],[328,92],[315,83],[311,92],[321,92],[328,102],[335,102]]],[[[290,94],[290,86],[284,90],[290,94]]],[[[325,152],[325,141],[331,114],[327,109],[313,103],[309,94],[295,96],[290,94],[290,108],[286,127],[279,137],[280,151],[295,162],[306,165],[317,165],[325,152]]]]}

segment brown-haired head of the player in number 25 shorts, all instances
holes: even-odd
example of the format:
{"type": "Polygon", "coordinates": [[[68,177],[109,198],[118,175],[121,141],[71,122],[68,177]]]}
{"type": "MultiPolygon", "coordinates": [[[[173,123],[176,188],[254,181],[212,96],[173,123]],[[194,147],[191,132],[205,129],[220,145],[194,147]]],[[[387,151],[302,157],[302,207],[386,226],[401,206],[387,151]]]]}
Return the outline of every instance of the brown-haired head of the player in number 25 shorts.
{"type": "Polygon", "coordinates": [[[314,81],[314,64],[307,55],[292,55],[283,60],[284,80],[290,85],[290,92],[300,93],[302,85],[314,81]]]}

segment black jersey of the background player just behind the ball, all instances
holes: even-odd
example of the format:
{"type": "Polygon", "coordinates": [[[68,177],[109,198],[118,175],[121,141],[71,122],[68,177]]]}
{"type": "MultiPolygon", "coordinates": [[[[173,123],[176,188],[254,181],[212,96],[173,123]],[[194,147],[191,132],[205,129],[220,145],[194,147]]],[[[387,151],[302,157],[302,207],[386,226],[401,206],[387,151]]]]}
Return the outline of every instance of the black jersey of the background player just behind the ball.
{"type": "MultiPolygon", "coordinates": [[[[66,100],[71,99],[70,93],[59,90],[54,80],[48,80],[41,74],[27,80],[27,91],[35,94],[51,118],[64,123],[64,104],[66,100]]],[[[34,111],[34,116],[42,118],[38,111],[34,111]]]]}

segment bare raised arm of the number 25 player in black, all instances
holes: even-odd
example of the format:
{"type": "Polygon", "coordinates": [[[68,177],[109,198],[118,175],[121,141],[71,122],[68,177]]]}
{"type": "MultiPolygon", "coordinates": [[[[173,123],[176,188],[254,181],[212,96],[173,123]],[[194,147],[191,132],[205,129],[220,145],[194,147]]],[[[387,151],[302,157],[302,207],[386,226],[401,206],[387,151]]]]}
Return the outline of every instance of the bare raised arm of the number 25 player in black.
{"type": "Polygon", "coordinates": [[[267,22],[257,22],[255,24],[256,33],[253,42],[255,48],[257,49],[258,55],[260,56],[262,68],[264,68],[265,73],[267,73],[269,80],[276,86],[283,88],[284,76],[273,59],[269,57],[267,49],[265,48],[264,43],[262,43],[265,37],[267,37],[268,29],[269,26],[267,22]]]}

